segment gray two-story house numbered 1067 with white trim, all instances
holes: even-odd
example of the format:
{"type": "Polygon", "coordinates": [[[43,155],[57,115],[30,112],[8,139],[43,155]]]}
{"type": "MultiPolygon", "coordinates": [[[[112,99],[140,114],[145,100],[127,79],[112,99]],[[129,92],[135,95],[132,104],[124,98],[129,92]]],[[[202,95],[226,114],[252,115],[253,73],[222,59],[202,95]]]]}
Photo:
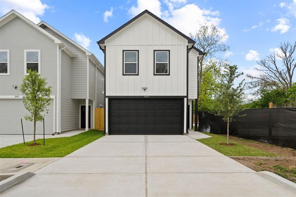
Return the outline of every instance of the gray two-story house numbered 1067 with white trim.
{"type": "MultiPolygon", "coordinates": [[[[19,91],[28,69],[52,86],[45,133],[94,128],[94,108],[104,107],[104,67],[73,40],[45,22],[38,25],[15,10],[0,18],[0,134],[33,134],[19,91]],[[88,107],[86,107],[88,106],[88,107]]],[[[43,123],[37,123],[37,134],[43,123]]]]}

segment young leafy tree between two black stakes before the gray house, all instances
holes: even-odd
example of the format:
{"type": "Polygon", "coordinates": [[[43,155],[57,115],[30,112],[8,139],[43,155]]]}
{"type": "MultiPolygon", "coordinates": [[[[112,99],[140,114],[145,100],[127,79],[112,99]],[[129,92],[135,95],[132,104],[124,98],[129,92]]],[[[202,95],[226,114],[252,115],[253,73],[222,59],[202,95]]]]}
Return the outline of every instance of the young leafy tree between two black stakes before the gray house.
{"type": "Polygon", "coordinates": [[[46,88],[47,82],[46,78],[40,77],[36,71],[28,70],[28,75],[22,79],[22,84],[20,85],[20,91],[23,95],[23,103],[25,108],[31,113],[26,114],[25,119],[29,121],[34,121],[34,141],[36,144],[36,122],[42,121],[44,114],[48,113],[46,107],[50,105],[50,94],[52,93],[52,87],[46,88]]]}

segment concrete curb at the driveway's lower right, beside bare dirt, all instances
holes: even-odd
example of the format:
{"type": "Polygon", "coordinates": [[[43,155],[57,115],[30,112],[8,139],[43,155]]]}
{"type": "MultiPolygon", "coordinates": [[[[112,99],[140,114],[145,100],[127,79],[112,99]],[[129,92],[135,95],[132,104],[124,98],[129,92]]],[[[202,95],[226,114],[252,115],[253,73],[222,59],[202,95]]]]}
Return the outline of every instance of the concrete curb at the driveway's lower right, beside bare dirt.
{"type": "Polygon", "coordinates": [[[276,183],[277,185],[296,195],[296,183],[293,183],[292,181],[268,171],[256,172],[256,174],[270,180],[273,183],[276,183]]]}

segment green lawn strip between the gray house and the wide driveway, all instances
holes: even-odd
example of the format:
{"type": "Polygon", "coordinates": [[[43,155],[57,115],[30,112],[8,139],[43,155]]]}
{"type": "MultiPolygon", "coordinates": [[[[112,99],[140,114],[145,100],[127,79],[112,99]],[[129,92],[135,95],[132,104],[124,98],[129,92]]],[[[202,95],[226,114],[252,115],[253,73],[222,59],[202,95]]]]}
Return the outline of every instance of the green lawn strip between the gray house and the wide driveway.
{"type": "Polygon", "coordinates": [[[63,157],[76,151],[77,149],[89,144],[104,135],[103,131],[89,130],[71,137],[48,138],[36,140],[42,145],[28,146],[33,141],[15,144],[0,148],[0,158],[37,158],[37,157],[63,157]]]}

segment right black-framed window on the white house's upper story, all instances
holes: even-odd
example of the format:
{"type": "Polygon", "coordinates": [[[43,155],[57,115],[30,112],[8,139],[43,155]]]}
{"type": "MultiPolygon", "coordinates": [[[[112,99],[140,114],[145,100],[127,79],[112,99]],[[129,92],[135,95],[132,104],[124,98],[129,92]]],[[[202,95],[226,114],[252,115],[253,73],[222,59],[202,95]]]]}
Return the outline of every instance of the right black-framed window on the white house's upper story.
{"type": "Polygon", "coordinates": [[[154,50],[154,75],[170,75],[170,50],[154,50]]]}

